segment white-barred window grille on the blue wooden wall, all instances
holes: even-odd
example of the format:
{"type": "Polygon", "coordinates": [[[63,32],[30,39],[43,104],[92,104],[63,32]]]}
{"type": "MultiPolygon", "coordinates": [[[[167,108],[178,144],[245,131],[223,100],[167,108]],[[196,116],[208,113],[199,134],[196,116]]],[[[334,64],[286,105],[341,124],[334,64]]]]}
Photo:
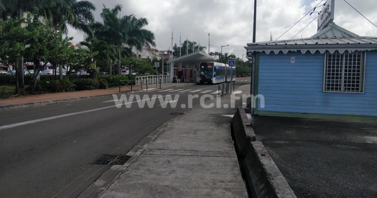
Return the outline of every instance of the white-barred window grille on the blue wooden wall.
{"type": "Polygon", "coordinates": [[[326,52],[323,91],[362,93],[364,57],[361,51],[326,52]]]}

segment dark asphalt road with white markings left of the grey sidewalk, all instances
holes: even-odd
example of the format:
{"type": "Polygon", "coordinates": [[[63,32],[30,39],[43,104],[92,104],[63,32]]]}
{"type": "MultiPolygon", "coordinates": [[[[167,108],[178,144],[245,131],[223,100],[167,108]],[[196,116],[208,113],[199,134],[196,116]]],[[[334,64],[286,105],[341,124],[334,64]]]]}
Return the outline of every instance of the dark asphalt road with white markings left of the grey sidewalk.
{"type": "MultiPolygon", "coordinates": [[[[236,89],[248,83],[237,81],[236,89]]],[[[216,95],[217,90],[217,85],[194,85],[140,93],[141,99],[179,94],[175,108],[137,103],[116,108],[108,97],[0,112],[0,197],[76,197],[110,167],[91,164],[98,157],[126,155],[175,117],[170,113],[187,111],[181,104],[187,106],[189,94],[216,95]]],[[[193,106],[198,104],[194,98],[193,106]]]]}

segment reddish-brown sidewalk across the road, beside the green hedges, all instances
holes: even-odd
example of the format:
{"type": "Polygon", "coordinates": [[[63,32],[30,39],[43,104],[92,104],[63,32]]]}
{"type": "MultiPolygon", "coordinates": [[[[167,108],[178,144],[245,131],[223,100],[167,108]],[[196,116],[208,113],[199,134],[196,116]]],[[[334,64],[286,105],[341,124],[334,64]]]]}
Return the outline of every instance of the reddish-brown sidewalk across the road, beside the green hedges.
{"type": "MultiPolygon", "coordinates": [[[[161,83],[161,89],[168,88],[168,87],[175,87],[175,86],[188,86],[193,85],[195,83],[161,83]]],[[[148,89],[154,88],[156,89],[156,84],[149,84],[148,89]]],[[[159,84],[158,84],[159,88],[159,84]]],[[[140,90],[140,87],[132,87],[132,91],[140,90]]],[[[143,86],[143,90],[146,89],[146,86],[143,86]]],[[[130,87],[121,87],[121,92],[129,92],[131,91],[130,87]]],[[[59,93],[49,93],[49,94],[39,94],[39,95],[28,95],[23,97],[14,97],[14,98],[4,98],[0,99],[0,111],[2,111],[2,107],[5,106],[13,106],[19,104],[31,104],[31,103],[41,103],[46,102],[46,104],[52,104],[52,101],[59,101],[59,100],[69,100],[69,99],[77,99],[77,98],[90,98],[95,96],[105,96],[111,94],[119,94],[119,88],[109,88],[109,89],[94,89],[94,90],[85,90],[85,91],[74,91],[74,92],[59,92],[59,93]]],[[[58,103],[58,102],[57,102],[58,103]]],[[[23,108],[28,107],[27,105],[23,106],[23,108]]],[[[5,108],[4,108],[5,109],[5,108]]]]}

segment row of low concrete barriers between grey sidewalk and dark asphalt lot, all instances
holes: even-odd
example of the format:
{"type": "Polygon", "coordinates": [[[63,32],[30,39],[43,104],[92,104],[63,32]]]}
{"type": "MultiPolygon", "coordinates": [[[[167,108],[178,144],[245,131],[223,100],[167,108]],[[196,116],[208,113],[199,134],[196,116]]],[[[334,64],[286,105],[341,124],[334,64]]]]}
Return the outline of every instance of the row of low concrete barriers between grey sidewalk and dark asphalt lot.
{"type": "Polygon", "coordinates": [[[255,141],[245,109],[238,107],[232,122],[234,147],[251,197],[296,198],[263,144],[255,141]]]}

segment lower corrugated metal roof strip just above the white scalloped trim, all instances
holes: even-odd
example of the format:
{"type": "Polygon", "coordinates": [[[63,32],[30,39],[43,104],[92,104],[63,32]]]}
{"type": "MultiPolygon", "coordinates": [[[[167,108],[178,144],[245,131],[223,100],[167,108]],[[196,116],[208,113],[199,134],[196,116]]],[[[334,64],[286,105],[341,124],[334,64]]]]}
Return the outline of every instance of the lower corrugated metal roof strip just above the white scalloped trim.
{"type": "Polygon", "coordinates": [[[255,45],[326,45],[326,44],[377,44],[377,37],[297,38],[291,40],[248,43],[255,45]]]}

